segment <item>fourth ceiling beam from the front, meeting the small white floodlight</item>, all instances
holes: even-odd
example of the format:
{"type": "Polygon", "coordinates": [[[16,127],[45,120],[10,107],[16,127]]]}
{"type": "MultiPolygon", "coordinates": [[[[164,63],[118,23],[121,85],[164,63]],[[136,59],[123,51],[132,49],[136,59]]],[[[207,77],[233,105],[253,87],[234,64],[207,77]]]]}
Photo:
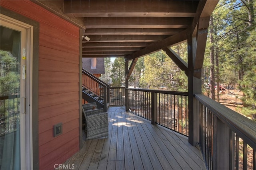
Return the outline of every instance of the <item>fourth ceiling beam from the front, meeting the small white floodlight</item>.
{"type": "Polygon", "coordinates": [[[152,35],[99,35],[99,36],[88,36],[90,41],[83,40],[83,43],[91,42],[156,42],[160,41],[166,36],[152,36],[152,35]]]}

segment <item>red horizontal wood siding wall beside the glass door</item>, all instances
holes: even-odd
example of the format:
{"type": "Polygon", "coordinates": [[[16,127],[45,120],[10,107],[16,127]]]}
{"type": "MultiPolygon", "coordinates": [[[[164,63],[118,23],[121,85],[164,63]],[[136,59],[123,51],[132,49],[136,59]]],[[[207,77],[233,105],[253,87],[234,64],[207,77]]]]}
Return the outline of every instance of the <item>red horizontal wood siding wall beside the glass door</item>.
{"type": "Polygon", "coordinates": [[[40,23],[39,167],[54,169],[79,150],[79,28],[31,1],[1,6],[40,23]],[[58,123],[63,133],[54,137],[58,123]]]}

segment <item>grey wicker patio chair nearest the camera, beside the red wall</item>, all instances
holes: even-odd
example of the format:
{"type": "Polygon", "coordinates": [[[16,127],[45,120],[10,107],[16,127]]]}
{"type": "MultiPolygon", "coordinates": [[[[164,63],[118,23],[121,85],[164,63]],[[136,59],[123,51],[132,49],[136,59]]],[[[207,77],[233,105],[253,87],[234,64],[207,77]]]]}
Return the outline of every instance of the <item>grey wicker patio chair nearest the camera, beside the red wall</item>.
{"type": "Polygon", "coordinates": [[[87,127],[86,140],[108,137],[108,113],[104,113],[103,109],[82,110],[87,127]]]}

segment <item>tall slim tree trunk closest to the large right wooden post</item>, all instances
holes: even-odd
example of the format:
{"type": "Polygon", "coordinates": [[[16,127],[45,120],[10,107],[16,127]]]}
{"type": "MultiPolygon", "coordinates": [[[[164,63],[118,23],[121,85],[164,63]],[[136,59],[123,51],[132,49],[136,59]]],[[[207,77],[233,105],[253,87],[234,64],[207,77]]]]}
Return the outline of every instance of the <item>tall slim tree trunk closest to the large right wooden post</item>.
{"type": "Polygon", "coordinates": [[[214,40],[213,40],[213,18],[210,17],[210,97],[215,100],[215,89],[214,89],[214,40]]]}

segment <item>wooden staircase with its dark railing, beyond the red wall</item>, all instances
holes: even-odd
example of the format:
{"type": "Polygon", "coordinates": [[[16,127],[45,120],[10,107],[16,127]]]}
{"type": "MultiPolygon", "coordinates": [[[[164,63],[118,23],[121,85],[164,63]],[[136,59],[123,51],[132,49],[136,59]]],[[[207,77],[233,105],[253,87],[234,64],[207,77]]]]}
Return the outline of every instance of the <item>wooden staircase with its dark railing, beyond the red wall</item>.
{"type": "Polygon", "coordinates": [[[88,103],[95,102],[104,112],[109,107],[109,85],[82,69],[82,98],[88,103]]]}

